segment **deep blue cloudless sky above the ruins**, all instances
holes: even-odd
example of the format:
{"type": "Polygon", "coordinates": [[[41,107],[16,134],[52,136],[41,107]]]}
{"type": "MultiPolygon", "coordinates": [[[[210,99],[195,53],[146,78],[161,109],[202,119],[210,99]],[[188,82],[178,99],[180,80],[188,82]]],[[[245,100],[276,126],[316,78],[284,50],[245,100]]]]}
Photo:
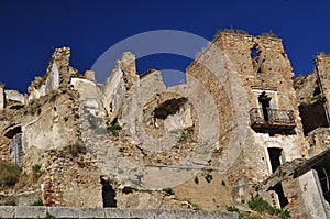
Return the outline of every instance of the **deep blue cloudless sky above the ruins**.
{"type": "MultiPolygon", "coordinates": [[[[0,81],[26,92],[34,77],[44,75],[55,47],[72,47],[72,66],[84,73],[109,47],[134,34],[179,30],[211,40],[229,28],[253,35],[275,33],[295,74],[306,75],[314,70],[316,54],[330,53],[329,9],[326,0],[2,0],[0,81]]],[[[184,70],[189,62],[152,55],[141,58],[138,69],[184,70]]]]}

